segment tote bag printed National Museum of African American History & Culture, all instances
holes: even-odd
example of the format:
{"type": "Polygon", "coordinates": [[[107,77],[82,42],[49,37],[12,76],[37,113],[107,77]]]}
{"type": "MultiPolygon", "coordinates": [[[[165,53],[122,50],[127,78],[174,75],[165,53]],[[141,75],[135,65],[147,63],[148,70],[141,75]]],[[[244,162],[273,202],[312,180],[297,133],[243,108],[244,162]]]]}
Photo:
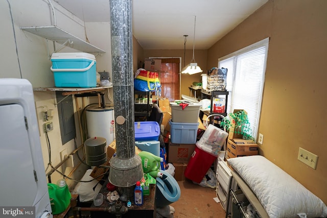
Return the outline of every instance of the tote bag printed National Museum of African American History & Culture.
{"type": "Polygon", "coordinates": [[[226,91],[227,68],[213,67],[207,71],[207,78],[209,91],[226,91]]]}

